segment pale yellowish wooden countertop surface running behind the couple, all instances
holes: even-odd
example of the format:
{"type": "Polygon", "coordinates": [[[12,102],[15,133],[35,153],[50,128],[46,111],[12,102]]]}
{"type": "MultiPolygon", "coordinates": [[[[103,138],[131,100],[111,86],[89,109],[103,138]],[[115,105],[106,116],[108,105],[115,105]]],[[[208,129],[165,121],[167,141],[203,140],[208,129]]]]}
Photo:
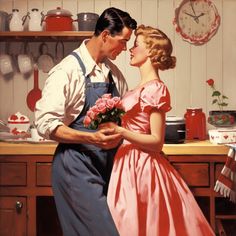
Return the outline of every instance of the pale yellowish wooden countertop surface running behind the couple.
{"type": "MultiPolygon", "coordinates": [[[[0,142],[0,155],[52,155],[57,143],[0,142]]],[[[229,147],[207,141],[186,141],[183,144],[165,144],[167,155],[225,155],[229,147]]]]}

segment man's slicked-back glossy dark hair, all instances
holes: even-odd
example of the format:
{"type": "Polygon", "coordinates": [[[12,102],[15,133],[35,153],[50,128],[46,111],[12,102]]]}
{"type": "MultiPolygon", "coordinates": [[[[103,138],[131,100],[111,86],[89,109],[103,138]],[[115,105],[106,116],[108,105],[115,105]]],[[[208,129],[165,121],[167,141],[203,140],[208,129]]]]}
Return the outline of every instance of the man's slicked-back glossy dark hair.
{"type": "Polygon", "coordinates": [[[107,8],[98,18],[94,35],[98,36],[107,29],[114,36],[119,34],[124,27],[135,30],[137,22],[127,12],[114,7],[107,8]]]}

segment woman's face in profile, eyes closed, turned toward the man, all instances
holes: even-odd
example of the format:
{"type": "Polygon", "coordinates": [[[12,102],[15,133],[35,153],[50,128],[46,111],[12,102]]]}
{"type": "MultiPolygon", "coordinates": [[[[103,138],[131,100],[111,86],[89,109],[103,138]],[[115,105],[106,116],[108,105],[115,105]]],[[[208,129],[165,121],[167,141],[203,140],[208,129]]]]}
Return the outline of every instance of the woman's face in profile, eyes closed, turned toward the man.
{"type": "Polygon", "coordinates": [[[130,65],[142,66],[149,57],[149,49],[146,48],[144,36],[138,35],[134,41],[134,46],[130,48],[130,65]]]}

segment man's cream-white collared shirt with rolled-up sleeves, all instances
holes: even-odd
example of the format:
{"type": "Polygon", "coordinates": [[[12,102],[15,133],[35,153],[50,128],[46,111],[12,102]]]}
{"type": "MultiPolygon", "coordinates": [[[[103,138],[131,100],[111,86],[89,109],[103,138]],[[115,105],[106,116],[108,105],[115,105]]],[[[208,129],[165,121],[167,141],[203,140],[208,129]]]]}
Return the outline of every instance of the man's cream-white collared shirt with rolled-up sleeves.
{"type": "MultiPolygon", "coordinates": [[[[110,60],[95,63],[86,48],[86,40],[75,50],[81,57],[86,75],[91,82],[109,81],[111,70],[113,80],[121,96],[127,91],[127,83],[121,71],[110,60]]],[[[68,55],[49,72],[42,91],[42,98],[36,103],[35,124],[38,132],[49,139],[50,133],[59,125],[70,125],[80,114],[85,102],[85,77],[73,55],[68,55]]]]}

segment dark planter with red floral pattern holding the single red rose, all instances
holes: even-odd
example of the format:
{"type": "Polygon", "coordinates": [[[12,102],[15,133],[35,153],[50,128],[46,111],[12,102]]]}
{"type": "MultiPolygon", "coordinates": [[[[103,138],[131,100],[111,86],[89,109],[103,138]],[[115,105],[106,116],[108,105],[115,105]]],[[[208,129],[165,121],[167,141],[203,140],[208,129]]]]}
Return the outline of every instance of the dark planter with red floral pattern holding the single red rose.
{"type": "Polygon", "coordinates": [[[236,110],[209,111],[207,122],[215,127],[232,127],[236,123],[236,110]]]}

